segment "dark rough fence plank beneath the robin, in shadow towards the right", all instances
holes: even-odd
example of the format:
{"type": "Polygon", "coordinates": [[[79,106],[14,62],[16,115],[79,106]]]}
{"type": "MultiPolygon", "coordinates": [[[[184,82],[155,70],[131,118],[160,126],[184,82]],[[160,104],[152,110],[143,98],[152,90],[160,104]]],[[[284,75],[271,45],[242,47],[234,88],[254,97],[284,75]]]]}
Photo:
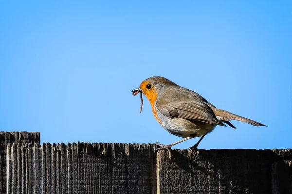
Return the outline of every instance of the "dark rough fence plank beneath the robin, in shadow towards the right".
{"type": "MultiPolygon", "coordinates": [[[[158,194],[268,194],[272,192],[272,163],[292,157],[291,150],[172,150],[171,153],[172,160],[167,151],[159,151],[157,155],[158,194]]],[[[291,181],[287,187],[291,188],[291,181]]]]}

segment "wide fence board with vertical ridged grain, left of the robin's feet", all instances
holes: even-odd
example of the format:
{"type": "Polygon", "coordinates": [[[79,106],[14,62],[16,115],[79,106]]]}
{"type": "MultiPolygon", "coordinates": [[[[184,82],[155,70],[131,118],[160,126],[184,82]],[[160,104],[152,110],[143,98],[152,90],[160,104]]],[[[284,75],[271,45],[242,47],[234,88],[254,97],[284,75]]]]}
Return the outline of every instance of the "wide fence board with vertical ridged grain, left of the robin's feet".
{"type": "Polygon", "coordinates": [[[9,194],[156,194],[153,145],[8,144],[9,194]]]}

